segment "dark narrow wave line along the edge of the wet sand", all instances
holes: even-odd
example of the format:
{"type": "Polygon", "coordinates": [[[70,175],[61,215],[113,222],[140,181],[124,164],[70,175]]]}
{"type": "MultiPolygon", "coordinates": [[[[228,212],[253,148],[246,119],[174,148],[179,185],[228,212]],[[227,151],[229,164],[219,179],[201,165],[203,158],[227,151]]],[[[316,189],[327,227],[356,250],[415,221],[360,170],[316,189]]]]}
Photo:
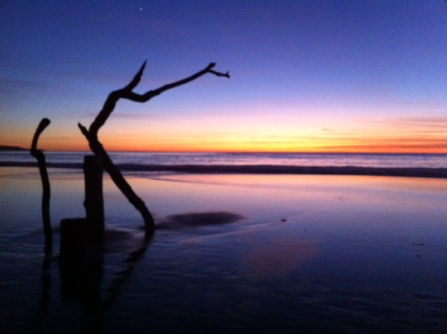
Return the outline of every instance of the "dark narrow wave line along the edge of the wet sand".
{"type": "MultiPolygon", "coordinates": [[[[47,162],[47,168],[82,170],[82,163],[47,162]]],[[[447,168],[360,167],[360,166],[277,166],[277,165],[135,165],[117,164],[122,171],[175,172],[191,174],[295,174],[295,175],[367,175],[396,177],[447,178],[447,168]]],[[[0,167],[38,167],[36,162],[0,161],[0,167]]]]}

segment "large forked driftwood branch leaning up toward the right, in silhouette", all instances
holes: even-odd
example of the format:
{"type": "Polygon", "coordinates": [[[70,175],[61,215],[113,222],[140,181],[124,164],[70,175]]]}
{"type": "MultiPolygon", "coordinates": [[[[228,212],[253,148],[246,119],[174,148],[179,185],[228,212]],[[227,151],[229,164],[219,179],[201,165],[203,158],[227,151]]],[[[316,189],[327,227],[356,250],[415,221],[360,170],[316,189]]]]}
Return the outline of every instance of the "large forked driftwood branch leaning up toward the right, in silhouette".
{"type": "Polygon", "coordinates": [[[135,194],[130,184],[124,179],[121,171],[113,164],[112,159],[110,159],[109,155],[105,151],[103,145],[98,140],[98,131],[101,129],[101,126],[105,124],[108,117],[112,113],[112,111],[115,109],[115,106],[117,104],[117,101],[119,99],[127,99],[134,102],[140,102],[144,103],[152,99],[154,96],[157,96],[163,92],[165,92],[168,89],[173,89],[175,87],[184,85],[188,82],[191,82],[193,80],[196,80],[197,78],[200,78],[202,75],[205,75],[207,73],[211,73],[214,75],[217,75],[219,77],[226,77],[230,78],[230,75],[227,73],[220,73],[217,71],[214,71],[212,68],[214,68],[216,64],[210,63],[207,67],[205,67],[203,70],[198,71],[197,73],[194,73],[193,75],[189,76],[188,78],[184,78],[182,80],[178,80],[176,82],[170,83],[168,85],[164,85],[162,87],[159,87],[158,89],[150,90],[146,92],[145,94],[137,94],[135,92],[132,92],[132,90],[140,83],[141,76],[143,71],[145,70],[146,61],[142,64],[140,70],[138,73],[135,74],[131,82],[129,82],[129,85],[122,89],[118,89],[116,91],[113,91],[109,94],[108,98],[105,100],[104,106],[102,110],[98,113],[94,121],[91,123],[89,129],[85,128],[82,124],[78,123],[79,129],[82,132],[82,134],[85,136],[87,141],[89,142],[89,147],[92,152],[97,157],[100,157],[104,169],[107,171],[107,173],[110,175],[111,179],[119,190],[122,191],[124,196],[128,199],[128,201],[137,209],[140,214],[142,215],[142,218],[145,222],[145,231],[146,233],[153,233],[155,229],[154,224],[154,218],[152,217],[151,213],[147,209],[145,202],[142,201],[140,197],[135,194]]]}

